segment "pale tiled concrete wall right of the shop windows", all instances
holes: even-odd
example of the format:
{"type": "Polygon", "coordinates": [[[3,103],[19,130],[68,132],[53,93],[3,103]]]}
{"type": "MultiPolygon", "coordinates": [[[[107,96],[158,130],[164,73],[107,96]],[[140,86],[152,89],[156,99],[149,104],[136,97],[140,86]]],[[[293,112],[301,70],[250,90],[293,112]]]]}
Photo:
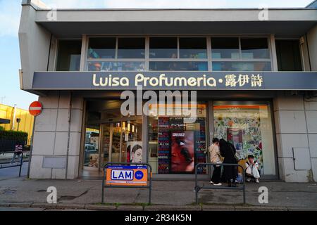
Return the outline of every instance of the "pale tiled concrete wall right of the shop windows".
{"type": "Polygon", "coordinates": [[[317,98],[281,92],[274,99],[274,114],[280,179],[317,181],[317,98]],[[306,163],[310,169],[295,169],[293,148],[309,148],[306,163]]]}

